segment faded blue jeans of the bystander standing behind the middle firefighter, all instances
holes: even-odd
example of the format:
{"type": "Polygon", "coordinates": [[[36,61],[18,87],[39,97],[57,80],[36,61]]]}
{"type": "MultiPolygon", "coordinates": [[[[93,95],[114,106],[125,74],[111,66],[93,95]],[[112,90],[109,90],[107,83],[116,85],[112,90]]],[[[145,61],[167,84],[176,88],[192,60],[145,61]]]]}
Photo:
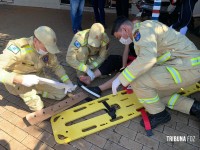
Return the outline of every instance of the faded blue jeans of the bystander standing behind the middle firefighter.
{"type": "Polygon", "coordinates": [[[82,14],[85,5],[85,0],[70,0],[70,13],[72,19],[72,29],[76,33],[78,30],[82,30],[82,14]]]}

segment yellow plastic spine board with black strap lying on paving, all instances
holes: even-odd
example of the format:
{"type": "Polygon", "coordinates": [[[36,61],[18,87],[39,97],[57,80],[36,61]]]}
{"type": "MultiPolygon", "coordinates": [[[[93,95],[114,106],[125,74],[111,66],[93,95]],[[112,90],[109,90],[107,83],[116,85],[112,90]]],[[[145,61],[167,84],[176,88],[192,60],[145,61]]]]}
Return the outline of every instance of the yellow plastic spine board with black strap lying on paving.
{"type": "Polygon", "coordinates": [[[141,113],[137,110],[142,107],[142,104],[139,103],[135,94],[126,94],[126,91],[120,91],[117,96],[111,94],[68,109],[51,118],[55,140],[59,144],[69,143],[76,139],[125,122],[139,116],[141,113]],[[97,113],[101,110],[106,110],[102,101],[106,101],[110,106],[119,107],[116,110],[117,118],[112,120],[108,113],[104,113],[86,120],[86,116],[97,113]],[[81,121],[77,122],[77,120],[81,121]],[[70,125],[71,122],[74,124],[70,125]]]}

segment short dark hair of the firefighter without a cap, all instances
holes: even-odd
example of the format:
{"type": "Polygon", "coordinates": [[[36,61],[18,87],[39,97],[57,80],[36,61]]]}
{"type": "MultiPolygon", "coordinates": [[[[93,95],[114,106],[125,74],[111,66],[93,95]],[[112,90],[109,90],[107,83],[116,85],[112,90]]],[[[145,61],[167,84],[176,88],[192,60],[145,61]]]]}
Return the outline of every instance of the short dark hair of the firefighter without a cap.
{"type": "Polygon", "coordinates": [[[126,18],[124,16],[119,16],[113,23],[111,34],[114,35],[114,33],[119,30],[119,28],[121,27],[122,24],[131,25],[132,23],[128,18],[126,18]]]}

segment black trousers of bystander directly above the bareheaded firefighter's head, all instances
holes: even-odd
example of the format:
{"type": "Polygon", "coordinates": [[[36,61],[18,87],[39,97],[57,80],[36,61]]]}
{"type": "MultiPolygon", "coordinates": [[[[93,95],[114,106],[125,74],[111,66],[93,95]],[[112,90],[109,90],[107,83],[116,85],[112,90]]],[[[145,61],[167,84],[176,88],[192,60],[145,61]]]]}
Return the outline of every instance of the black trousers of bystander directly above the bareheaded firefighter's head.
{"type": "Polygon", "coordinates": [[[125,16],[128,18],[129,0],[116,0],[117,16],[125,16]]]}

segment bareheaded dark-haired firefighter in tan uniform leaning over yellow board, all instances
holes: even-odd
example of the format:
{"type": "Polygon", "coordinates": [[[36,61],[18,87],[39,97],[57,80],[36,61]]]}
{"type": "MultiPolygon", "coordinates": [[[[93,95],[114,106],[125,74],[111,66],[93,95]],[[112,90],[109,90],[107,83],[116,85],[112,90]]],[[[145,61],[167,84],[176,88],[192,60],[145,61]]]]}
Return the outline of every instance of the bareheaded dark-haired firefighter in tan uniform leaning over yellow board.
{"type": "Polygon", "coordinates": [[[113,94],[120,84],[130,84],[149,112],[152,128],[171,119],[165,107],[200,119],[200,102],[177,93],[200,80],[200,51],[186,36],[160,22],[133,25],[124,17],[115,21],[112,33],[121,43],[133,41],[137,54],[113,81],[113,94]]]}

